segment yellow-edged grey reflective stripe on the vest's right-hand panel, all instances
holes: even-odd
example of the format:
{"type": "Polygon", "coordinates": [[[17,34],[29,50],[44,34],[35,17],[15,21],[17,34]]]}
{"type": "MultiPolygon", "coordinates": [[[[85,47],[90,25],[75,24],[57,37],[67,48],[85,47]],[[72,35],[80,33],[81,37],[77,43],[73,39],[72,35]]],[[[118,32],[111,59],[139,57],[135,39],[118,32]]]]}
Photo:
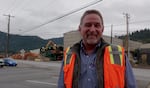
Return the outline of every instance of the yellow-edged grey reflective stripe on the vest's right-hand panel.
{"type": "Polygon", "coordinates": [[[123,65],[122,62],[122,49],[119,45],[117,46],[108,46],[110,53],[111,64],[123,65]]]}

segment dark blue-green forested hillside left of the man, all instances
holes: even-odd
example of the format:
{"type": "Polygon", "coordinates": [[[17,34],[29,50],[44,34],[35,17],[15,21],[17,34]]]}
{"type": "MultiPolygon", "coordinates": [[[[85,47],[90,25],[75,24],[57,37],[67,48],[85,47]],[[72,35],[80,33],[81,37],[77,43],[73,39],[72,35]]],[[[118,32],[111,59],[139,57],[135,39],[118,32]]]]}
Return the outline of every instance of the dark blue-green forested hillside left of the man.
{"type": "MultiPolygon", "coordinates": [[[[58,45],[63,45],[63,37],[44,40],[37,36],[20,36],[10,34],[9,51],[18,52],[21,49],[31,50],[41,48],[42,46],[45,46],[49,40],[52,40],[58,45]]],[[[6,33],[0,32],[0,52],[5,51],[7,44],[6,42],[6,33]]]]}

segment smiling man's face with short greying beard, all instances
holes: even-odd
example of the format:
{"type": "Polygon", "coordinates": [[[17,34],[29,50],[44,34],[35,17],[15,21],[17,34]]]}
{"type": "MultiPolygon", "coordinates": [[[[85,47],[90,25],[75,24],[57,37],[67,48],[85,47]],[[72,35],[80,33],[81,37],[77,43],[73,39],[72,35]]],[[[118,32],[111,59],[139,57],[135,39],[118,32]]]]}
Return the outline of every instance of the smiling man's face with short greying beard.
{"type": "Polygon", "coordinates": [[[97,14],[88,14],[83,18],[79,31],[86,45],[96,45],[103,33],[104,26],[97,14]]]}

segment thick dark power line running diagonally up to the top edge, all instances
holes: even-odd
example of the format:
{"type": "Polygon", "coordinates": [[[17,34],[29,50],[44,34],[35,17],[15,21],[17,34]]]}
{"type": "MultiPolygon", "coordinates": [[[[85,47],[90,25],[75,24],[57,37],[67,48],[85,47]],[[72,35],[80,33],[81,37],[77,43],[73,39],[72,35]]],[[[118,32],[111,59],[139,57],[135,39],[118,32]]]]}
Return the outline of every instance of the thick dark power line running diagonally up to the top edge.
{"type": "Polygon", "coordinates": [[[95,5],[95,4],[97,4],[98,2],[100,2],[100,1],[102,1],[102,0],[97,0],[97,1],[91,2],[91,3],[85,5],[85,6],[81,7],[81,8],[77,8],[77,9],[75,9],[75,10],[73,10],[73,11],[67,13],[67,14],[64,14],[64,15],[62,15],[62,16],[56,17],[56,18],[54,18],[54,19],[51,19],[51,20],[49,20],[49,21],[47,21],[47,22],[45,22],[45,23],[43,23],[43,24],[41,24],[41,25],[38,25],[38,26],[36,26],[36,27],[34,27],[34,28],[31,28],[31,29],[29,29],[29,30],[26,30],[26,31],[24,31],[24,32],[22,32],[22,33],[29,32],[29,31],[33,31],[33,30],[35,30],[35,29],[37,29],[37,28],[40,28],[40,27],[42,27],[42,26],[44,26],[44,25],[47,25],[47,24],[52,23],[52,22],[54,22],[54,21],[56,21],[56,20],[59,20],[59,19],[64,18],[64,17],[66,17],[66,16],[69,16],[69,15],[75,13],[75,12],[78,12],[78,11],[84,9],[84,8],[87,8],[87,7],[89,7],[89,6],[95,5]]]}

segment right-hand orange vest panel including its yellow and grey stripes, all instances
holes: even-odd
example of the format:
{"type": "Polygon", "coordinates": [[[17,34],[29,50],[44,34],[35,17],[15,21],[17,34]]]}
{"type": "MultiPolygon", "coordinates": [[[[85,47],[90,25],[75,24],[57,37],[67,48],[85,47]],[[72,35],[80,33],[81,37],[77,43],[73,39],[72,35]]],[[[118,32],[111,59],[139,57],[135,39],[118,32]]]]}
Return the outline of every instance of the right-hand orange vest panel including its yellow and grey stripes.
{"type": "Polygon", "coordinates": [[[105,88],[124,88],[125,56],[124,48],[110,45],[104,53],[104,86],[105,88]]]}

